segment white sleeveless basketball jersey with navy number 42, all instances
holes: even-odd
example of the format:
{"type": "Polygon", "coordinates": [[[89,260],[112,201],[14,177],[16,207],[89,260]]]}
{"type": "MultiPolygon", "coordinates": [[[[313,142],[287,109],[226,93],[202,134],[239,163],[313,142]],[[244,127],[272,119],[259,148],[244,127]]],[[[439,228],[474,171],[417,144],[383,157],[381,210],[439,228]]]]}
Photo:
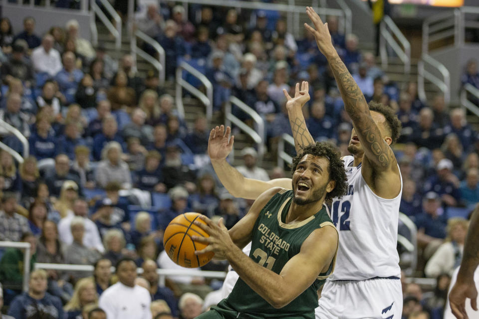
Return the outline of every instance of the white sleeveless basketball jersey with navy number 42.
{"type": "Polygon", "coordinates": [[[367,185],[361,164],[343,158],[348,177],[347,194],[335,199],[331,220],[339,233],[336,269],[329,280],[364,280],[400,277],[397,252],[399,204],[403,191],[393,199],[381,198],[367,185]]]}

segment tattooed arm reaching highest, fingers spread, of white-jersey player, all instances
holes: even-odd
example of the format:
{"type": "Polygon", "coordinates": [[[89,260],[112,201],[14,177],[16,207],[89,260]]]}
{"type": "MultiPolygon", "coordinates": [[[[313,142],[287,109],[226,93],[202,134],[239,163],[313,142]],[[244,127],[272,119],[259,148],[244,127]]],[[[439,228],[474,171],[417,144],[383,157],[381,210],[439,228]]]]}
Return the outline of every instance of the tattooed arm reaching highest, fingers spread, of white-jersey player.
{"type": "Polygon", "coordinates": [[[336,52],[331,42],[327,23],[321,21],[312,7],[306,7],[306,13],[314,28],[306,23],[304,26],[314,35],[319,50],[328,60],[341,92],[344,107],[353,121],[354,129],[363,146],[367,160],[375,171],[382,171],[391,167],[395,169],[397,165],[393,151],[388,143],[382,139],[381,132],[371,117],[363,93],[336,52]]]}

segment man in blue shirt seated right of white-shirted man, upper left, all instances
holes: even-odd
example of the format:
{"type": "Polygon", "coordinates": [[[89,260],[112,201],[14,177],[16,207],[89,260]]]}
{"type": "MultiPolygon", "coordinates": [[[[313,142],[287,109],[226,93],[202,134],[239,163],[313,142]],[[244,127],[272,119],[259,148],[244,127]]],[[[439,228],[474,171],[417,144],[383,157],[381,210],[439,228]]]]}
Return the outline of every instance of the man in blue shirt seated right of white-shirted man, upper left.
{"type": "Polygon", "coordinates": [[[75,94],[78,84],[83,79],[83,72],[75,67],[75,54],[67,51],[63,53],[63,68],[56,74],[60,92],[65,96],[66,103],[75,102],[75,94]]]}

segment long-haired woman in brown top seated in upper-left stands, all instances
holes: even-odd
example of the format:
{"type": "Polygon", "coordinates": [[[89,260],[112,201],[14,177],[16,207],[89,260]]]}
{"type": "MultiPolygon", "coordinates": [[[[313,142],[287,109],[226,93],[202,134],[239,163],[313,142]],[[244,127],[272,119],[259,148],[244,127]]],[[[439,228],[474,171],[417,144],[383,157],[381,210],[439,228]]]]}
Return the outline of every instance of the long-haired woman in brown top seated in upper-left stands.
{"type": "Polygon", "coordinates": [[[113,78],[114,85],[110,87],[107,98],[111,103],[111,110],[123,110],[128,113],[136,103],[135,90],[128,87],[128,77],[125,72],[118,71],[113,78]]]}

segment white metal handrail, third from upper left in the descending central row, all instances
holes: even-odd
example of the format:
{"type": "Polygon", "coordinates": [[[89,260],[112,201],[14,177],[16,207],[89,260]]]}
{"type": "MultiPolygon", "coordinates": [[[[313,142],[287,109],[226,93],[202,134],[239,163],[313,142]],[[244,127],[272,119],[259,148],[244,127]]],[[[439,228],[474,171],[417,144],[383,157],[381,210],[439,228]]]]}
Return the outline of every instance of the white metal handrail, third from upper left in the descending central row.
{"type": "Polygon", "coordinates": [[[183,106],[183,90],[185,89],[194,96],[196,96],[200,101],[206,106],[206,117],[208,121],[211,120],[213,115],[213,84],[211,84],[210,80],[188,64],[185,61],[182,61],[178,68],[176,69],[176,107],[178,109],[178,113],[181,117],[185,117],[185,108],[183,106]],[[191,75],[195,76],[206,88],[206,94],[195,88],[193,85],[188,83],[183,79],[183,70],[187,71],[191,75]]]}

